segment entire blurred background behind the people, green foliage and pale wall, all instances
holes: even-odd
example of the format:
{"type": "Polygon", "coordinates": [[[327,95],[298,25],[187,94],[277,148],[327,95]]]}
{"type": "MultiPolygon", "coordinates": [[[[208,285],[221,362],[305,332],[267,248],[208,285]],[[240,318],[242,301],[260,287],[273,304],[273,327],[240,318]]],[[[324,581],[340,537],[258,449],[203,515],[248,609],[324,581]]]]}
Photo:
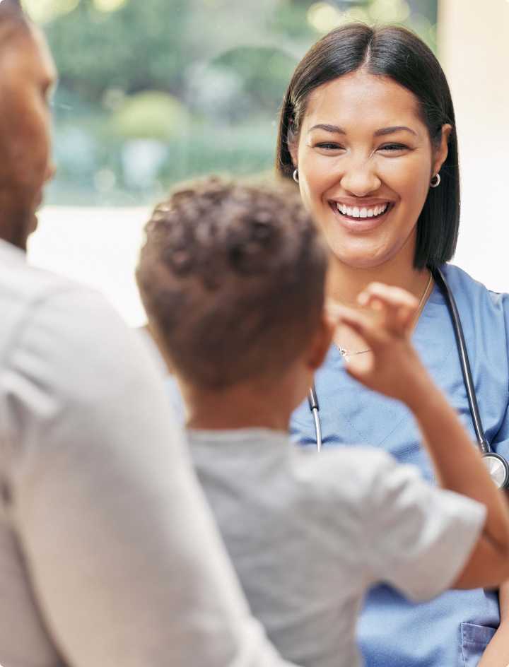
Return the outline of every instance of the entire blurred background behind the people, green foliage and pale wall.
{"type": "MultiPolygon", "coordinates": [[[[438,54],[466,145],[464,182],[477,190],[469,211],[478,206],[484,216],[475,213],[476,254],[489,251],[496,216],[493,229],[502,218],[509,223],[505,155],[497,161],[504,141],[509,148],[508,0],[24,4],[45,29],[60,75],[53,98],[58,173],[30,259],[100,288],[130,324],[144,320],[132,271],[150,207],[182,179],[269,172],[293,69],[321,35],[351,20],[406,25],[438,54]],[[504,191],[497,194],[493,177],[479,193],[480,174],[499,171],[504,191]]],[[[479,261],[472,269],[469,247],[462,232],[462,265],[509,290],[509,270],[503,283],[493,274],[493,257],[491,274],[479,272],[479,261]]]]}

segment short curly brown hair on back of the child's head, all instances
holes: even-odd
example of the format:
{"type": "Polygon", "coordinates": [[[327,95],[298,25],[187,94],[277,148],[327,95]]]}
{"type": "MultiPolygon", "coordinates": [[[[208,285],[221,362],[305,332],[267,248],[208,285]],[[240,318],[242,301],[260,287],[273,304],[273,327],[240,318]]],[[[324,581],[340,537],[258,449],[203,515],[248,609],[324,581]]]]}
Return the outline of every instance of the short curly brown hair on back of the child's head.
{"type": "Polygon", "coordinates": [[[175,191],[136,272],[165,355],[202,389],[277,377],[321,321],[327,251],[293,188],[216,177],[175,191]]]}

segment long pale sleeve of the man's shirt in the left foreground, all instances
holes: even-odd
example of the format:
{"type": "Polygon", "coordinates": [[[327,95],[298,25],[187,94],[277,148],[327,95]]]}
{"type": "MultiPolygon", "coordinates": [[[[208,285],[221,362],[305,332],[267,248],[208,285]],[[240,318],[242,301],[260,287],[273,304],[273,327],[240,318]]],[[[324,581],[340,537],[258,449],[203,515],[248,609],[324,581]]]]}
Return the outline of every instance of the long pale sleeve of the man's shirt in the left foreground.
{"type": "Polygon", "coordinates": [[[69,290],[40,303],[2,373],[12,525],[66,664],[282,667],[238,587],[163,380],[103,299],[69,290]]]}

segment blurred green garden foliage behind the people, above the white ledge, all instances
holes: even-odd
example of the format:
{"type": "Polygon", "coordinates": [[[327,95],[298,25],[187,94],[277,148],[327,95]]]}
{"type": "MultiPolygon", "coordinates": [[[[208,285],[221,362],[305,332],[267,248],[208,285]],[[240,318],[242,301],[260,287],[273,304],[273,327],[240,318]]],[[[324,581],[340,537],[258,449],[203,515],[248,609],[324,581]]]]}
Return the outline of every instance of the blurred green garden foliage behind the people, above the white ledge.
{"type": "Polygon", "coordinates": [[[53,203],[148,203],[193,175],[271,169],[291,73],[336,20],[398,19],[435,48],[436,0],[25,3],[60,75],[53,203]]]}

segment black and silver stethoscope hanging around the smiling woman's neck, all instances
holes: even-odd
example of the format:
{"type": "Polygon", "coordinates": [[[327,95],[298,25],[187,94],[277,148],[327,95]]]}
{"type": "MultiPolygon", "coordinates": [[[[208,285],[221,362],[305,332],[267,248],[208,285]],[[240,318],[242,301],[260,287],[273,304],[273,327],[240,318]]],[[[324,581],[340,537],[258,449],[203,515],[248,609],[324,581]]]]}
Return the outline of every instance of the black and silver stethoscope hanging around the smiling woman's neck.
{"type": "MultiPolygon", "coordinates": [[[[445,277],[440,271],[440,268],[432,268],[431,274],[435,284],[438,286],[440,292],[445,298],[447,309],[449,310],[452,327],[455,332],[456,345],[458,355],[460,356],[460,363],[462,367],[463,382],[467,390],[467,398],[469,402],[470,415],[472,416],[472,423],[476,434],[477,446],[481,451],[481,456],[484,459],[491,479],[499,489],[509,488],[509,464],[503,456],[492,451],[486,435],[484,434],[483,425],[481,422],[481,415],[479,414],[479,406],[477,405],[477,398],[474,389],[474,381],[472,379],[472,370],[470,369],[469,356],[467,353],[467,346],[464,341],[463,327],[458,312],[455,297],[452,295],[449,285],[445,277]]],[[[315,385],[312,386],[308,395],[310,411],[315,421],[315,434],[317,449],[322,449],[322,425],[320,424],[320,405],[315,385]]]]}

